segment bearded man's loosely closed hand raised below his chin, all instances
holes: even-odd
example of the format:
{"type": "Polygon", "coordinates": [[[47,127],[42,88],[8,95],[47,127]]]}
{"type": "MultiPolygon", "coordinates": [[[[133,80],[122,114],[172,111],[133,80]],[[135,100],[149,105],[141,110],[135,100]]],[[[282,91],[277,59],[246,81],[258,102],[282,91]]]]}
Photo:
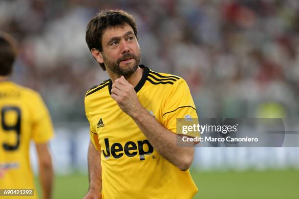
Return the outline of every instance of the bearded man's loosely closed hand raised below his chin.
{"type": "Polygon", "coordinates": [[[122,76],[114,81],[111,89],[111,98],[113,98],[119,107],[129,116],[142,109],[137,94],[133,86],[122,76]]]}

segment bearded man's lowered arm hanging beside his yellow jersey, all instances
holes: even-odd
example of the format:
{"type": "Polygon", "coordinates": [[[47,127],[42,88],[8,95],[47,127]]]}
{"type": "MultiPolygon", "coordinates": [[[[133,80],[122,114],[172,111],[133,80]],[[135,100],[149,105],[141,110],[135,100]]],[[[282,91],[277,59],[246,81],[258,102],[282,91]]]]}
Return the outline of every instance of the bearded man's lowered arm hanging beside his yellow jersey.
{"type": "Polygon", "coordinates": [[[89,190],[102,191],[101,151],[97,151],[90,142],[88,146],[89,190]]]}

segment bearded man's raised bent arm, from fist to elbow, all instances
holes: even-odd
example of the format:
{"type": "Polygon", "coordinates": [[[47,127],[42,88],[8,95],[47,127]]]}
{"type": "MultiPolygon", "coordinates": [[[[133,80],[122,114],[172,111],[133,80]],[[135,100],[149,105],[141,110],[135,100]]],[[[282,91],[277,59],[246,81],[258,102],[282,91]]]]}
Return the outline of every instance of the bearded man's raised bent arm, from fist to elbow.
{"type": "Polygon", "coordinates": [[[178,147],[177,138],[179,140],[180,136],[166,129],[148,113],[140,104],[133,86],[124,76],[113,82],[111,98],[117,102],[128,116],[134,119],[152,146],[164,158],[181,170],[187,170],[191,166],[194,155],[194,143],[188,143],[189,147],[178,147]]]}

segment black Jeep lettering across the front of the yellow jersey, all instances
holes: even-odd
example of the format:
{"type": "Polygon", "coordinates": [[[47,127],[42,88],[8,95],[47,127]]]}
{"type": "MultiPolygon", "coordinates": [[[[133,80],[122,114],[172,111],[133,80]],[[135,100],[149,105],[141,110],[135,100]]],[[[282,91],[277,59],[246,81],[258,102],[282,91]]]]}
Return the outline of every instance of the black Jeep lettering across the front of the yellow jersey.
{"type": "Polygon", "coordinates": [[[144,155],[150,155],[153,152],[153,147],[151,146],[151,144],[149,143],[149,140],[145,139],[143,141],[137,141],[137,145],[135,144],[135,142],[133,141],[128,141],[125,144],[125,147],[123,147],[121,145],[121,143],[115,142],[112,144],[111,146],[111,150],[110,150],[110,145],[109,145],[109,139],[105,138],[105,145],[106,145],[106,151],[102,150],[105,159],[108,159],[110,157],[110,151],[111,151],[111,155],[113,156],[113,158],[115,159],[119,159],[121,157],[123,157],[124,153],[128,156],[128,157],[134,157],[139,153],[139,159],[140,160],[145,160],[145,156],[144,155]],[[144,151],[143,146],[144,145],[148,145],[149,149],[148,151],[144,151]],[[135,151],[138,150],[138,151],[135,151]]]}

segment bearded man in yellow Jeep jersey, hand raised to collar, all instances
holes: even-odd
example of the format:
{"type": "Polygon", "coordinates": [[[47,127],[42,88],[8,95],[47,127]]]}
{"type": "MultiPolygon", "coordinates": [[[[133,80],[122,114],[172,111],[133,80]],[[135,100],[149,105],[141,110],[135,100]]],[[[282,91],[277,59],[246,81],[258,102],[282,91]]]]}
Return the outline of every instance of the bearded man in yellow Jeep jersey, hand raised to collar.
{"type": "Polygon", "coordinates": [[[105,10],[86,29],[86,43],[109,80],[85,95],[90,124],[85,199],[191,199],[194,143],[179,147],[176,118],[197,118],[187,83],[140,64],[136,23],[105,10]]]}

